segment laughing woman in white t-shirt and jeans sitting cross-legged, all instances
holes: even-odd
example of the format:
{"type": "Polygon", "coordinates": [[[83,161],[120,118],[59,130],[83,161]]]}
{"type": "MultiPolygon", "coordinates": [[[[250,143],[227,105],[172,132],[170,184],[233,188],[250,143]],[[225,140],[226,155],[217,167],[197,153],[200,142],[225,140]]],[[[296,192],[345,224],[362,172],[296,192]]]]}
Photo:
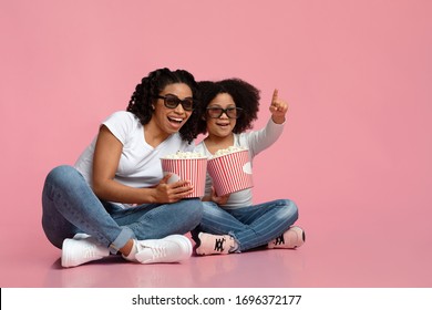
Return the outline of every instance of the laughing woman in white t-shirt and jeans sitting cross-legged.
{"type": "Polygon", "coordinates": [[[193,148],[196,86],[184,70],[151,72],[73,167],[50,172],[42,226],[63,267],[119,252],[141,264],[191,257],[183,235],[198,225],[202,203],[183,199],[193,189],[187,180],[167,184],[160,158],[193,148]]]}

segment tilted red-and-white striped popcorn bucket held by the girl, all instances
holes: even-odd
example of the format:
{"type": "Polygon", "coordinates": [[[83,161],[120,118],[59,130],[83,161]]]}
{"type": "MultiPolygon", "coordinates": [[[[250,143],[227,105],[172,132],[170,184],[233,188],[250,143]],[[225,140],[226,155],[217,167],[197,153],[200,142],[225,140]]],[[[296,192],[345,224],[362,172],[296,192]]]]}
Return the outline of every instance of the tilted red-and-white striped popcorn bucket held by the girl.
{"type": "Polygon", "coordinates": [[[247,149],[208,159],[207,170],[218,196],[254,186],[247,149]]]}

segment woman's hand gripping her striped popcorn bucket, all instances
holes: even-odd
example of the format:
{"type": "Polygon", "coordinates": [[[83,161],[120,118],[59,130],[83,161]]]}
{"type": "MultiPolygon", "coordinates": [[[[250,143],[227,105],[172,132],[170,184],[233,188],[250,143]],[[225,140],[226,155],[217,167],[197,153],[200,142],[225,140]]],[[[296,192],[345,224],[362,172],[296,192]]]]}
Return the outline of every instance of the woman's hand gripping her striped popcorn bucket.
{"type": "Polygon", "coordinates": [[[176,203],[187,195],[192,194],[194,187],[191,186],[188,180],[178,180],[168,184],[168,179],[172,175],[167,174],[161,179],[160,184],[154,188],[154,200],[160,204],[176,203]]]}

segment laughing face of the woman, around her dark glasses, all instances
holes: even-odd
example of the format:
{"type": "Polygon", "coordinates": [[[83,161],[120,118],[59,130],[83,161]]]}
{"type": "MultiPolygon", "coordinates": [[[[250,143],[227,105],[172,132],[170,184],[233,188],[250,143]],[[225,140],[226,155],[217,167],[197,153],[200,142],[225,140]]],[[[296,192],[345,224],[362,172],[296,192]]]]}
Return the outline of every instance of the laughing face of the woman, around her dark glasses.
{"type": "MultiPolygon", "coordinates": [[[[191,87],[184,83],[168,84],[160,93],[160,96],[174,95],[179,100],[193,97],[191,87]]],[[[154,104],[154,113],[150,125],[163,135],[171,135],[179,131],[179,128],[187,122],[192,111],[185,111],[182,104],[175,108],[166,107],[163,99],[157,99],[154,104]]]]}

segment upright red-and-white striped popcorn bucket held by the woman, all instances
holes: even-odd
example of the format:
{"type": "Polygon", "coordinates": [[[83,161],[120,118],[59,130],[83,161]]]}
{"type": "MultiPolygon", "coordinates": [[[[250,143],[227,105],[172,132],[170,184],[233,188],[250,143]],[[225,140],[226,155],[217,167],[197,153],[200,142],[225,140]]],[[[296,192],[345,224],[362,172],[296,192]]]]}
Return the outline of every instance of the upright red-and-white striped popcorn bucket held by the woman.
{"type": "Polygon", "coordinates": [[[189,180],[194,190],[186,198],[203,197],[205,192],[205,179],[207,158],[161,158],[164,176],[172,174],[168,183],[177,180],[189,180]]]}

